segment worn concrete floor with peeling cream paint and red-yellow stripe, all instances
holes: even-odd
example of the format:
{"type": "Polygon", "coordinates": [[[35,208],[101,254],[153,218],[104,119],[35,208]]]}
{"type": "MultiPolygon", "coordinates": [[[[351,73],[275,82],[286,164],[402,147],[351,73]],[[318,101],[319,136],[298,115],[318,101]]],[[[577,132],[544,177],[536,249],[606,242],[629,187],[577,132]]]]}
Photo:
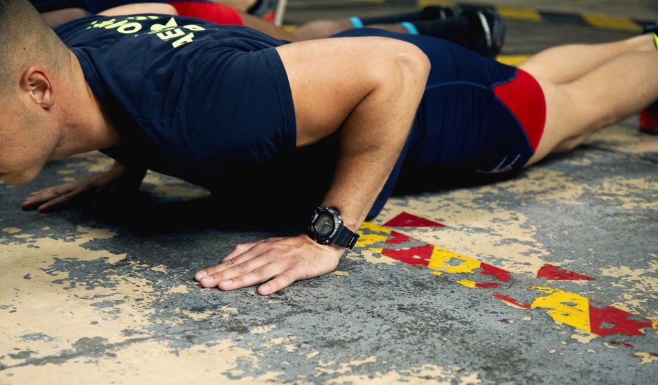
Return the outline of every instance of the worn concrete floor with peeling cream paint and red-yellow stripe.
{"type": "MultiPolygon", "coordinates": [[[[574,15],[658,19],[654,0],[489,3],[564,16],[506,14],[509,62],[635,33],[574,15]]],[[[296,0],[285,20],[415,7],[296,0]]],[[[512,181],[395,197],[336,271],[267,297],[193,280],[273,235],[222,228],[195,186],[148,174],[115,215],[20,210],[109,164],[0,184],[0,384],[658,383],[658,136],[637,116],[512,181]]]]}

